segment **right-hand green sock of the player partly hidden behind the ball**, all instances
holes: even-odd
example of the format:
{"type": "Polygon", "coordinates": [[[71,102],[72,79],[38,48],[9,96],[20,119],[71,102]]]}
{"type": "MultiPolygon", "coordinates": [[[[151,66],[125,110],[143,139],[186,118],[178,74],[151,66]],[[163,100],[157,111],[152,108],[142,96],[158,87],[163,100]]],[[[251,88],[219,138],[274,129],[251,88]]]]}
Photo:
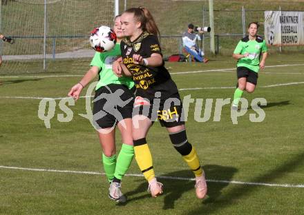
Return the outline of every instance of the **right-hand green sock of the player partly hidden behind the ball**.
{"type": "Polygon", "coordinates": [[[117,157],[117,163],[115,168],[114,176],[117,179],[122,180],[126,171],[128,171],[131,162],[134,156],[134,147],[133,145],[126,145],[122,143],[122,150],[120,150],[120,154],[117,157]]]}

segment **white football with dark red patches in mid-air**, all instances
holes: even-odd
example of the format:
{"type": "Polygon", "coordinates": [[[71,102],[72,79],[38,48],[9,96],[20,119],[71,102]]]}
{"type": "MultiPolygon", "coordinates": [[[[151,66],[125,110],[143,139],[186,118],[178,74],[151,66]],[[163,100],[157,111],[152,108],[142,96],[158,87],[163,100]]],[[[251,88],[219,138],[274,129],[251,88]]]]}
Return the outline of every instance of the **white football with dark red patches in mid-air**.
{"type": "Polygon", "coordinates": [[[114,48],[117,41],[115,32],[108,26],[100,26],[91,32],[90,44],[97,52],[106,52],[114,48]]]}

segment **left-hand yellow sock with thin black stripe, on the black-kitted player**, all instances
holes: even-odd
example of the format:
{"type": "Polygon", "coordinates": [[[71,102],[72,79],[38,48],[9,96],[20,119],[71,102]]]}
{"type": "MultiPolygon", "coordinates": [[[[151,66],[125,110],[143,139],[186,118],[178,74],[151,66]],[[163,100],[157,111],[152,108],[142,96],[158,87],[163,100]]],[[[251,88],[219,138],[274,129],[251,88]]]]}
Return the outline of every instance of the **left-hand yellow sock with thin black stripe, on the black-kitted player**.
{"type": "Polygon", "coordinates": [[[140,167],[142,174],[144,174],[144,178],[146,178],[147,181],[151,181],[155,178],[155,173],[148,144],[134,146],[134,153],[137,165],[140,167]]]}

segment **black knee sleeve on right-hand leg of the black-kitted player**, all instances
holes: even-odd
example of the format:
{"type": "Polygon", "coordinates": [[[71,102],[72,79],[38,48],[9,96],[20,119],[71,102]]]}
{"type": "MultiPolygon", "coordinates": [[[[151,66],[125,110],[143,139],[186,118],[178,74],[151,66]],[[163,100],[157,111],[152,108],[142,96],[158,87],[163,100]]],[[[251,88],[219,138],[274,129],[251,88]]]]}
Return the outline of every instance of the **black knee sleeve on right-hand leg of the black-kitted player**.
{"type": "Polygon", "coordinates": [[[192,150],[192,145],[187,140],[186,130],[169,134],[171,143],[182,156],[189,154],[192,150]]]}

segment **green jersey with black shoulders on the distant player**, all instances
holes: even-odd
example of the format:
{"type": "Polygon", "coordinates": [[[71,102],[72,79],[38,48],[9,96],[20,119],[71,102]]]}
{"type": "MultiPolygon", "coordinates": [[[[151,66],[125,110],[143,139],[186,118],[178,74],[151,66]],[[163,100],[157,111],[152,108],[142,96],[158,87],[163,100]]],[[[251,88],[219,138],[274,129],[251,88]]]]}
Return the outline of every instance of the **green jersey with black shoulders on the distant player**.
{"type": "Polygon", "coordinates": [[[260,69],[260,54],[262,52],[267,52],[267,45],[262,37],[256,36],[255,40],[249,40],[248,36],[244,37],[238,42],[238,45],[236,45],[234,54],[249,53],[249,55],[248,57],[238,59],[236,66],[244,66],[254,72],[258,72],[260,69]]]}

